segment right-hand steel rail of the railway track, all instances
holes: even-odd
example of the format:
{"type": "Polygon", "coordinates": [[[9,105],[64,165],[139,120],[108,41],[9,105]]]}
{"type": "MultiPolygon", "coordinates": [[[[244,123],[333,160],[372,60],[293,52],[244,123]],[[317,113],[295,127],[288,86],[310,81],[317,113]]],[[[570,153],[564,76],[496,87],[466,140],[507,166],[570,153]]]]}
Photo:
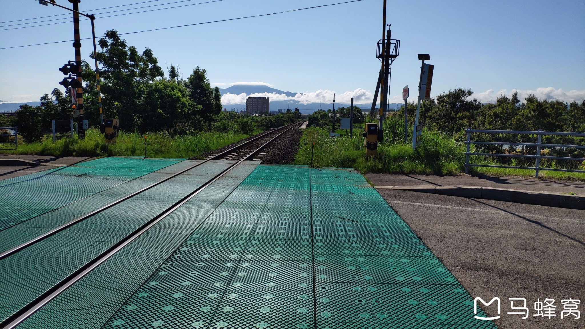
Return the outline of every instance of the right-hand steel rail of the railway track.
{"type": "MultiPolygon", "coordinates": [[[[142,226],[135,229],[135,231],[133,231],[132,233],[127,235],[126,238],[123,238],[121,241],[116,242],[116,244],[114,244],[110,248],[106,249],[106,251],[102,252],[96,258],[92,259],[88,263],[85,263],[85,265],[81,266],[79,269],[75,270],[73,273],[71,273],[70,275],[65,277],[63,280],[61,280],[61,282],[57,283],[57,285],[51,287],[46,292],[40,294],[40,296],[38,296],[36,299],[32,300],[25,307],[23,307],[22,309],[17,311],[12,316],[6,318],[6,320],[2,321],[2,323],[6,323],[6,324],[2,325],[2,323],[0,323],[0,325],[2,325],[1,329],[14,329],[14,328],[16,328],[19,324],[21,324],[27,318],[29,318],[30,316],[35,314],[36,311],[40,310],[44,305],[49,303],[55,297],[59,296],[59,294],[64,292],[64,290],[66,290],[68,287],[73,286],[75,282],[78,282],[82,277],[84,277],[85,275],[90,273],[93,269],[97,268],[100,264],[104,263],[106,260],[108,260],[116,252],[120,251],[126,245],[130,244],[130,242],[132,242],[134,239],[136,239],[137,237],[142,235],[144,232],[146,232],[148,229],[150,229],[154,225],[156,225],[157,222],[163,220],[163,218],[165,218],[168,215],[170,215],[171,213],[173,213],[173,211],[177,210],[177,208],[181,207],[181,205],[187,203],[187,201],[191,200],[191,198],[195,197],[197,194],[199,194],[199,192],[201,192],[206,187],[213,184],[216,180],[220,179],[223,175],[228,173],[230,170],[234,169],[240,163],[249,159],[249,157],[254,156],[255,153],[260,152],[261,149],[263,149],[264,147],[266,147],[270,143],[274,142],[274,140],[276,140],[278,137],[283,135],[285,132],[292,129],[293,125],[297,124],[297,123],[298,122],[294,122],[293,124],[283,126],[282,128],[285,128],[285,127],[288,127],[288,128],[284,129],[283,132],[278,133],[278,135],[274,136],[274,138],[270,139],[268,142],[261,145],[260,148],[257,148],[256,150],[254,150],[252,153],[247,155],[245,158],[238,160],[238,162],[233,163],[228,168],[222,170],[222,172],[216,174],[211,180],[208,180],[207,183],[205,183],[202,186],[199,186],[197,189],[192,191],[190,194],[181,198],[181,200],[179,200],[176,203],[174,203],[173,205],[171,205],[171,207],[167,208],[167,210],[163,211],[163,213],[157,215],[152,220],[144,223],[142,226]]],[[[266,134],[264,134],[264,135],[266,135],[266,134]]],[[[211,158],[208,160],[211,160],[211,158]]]]}

